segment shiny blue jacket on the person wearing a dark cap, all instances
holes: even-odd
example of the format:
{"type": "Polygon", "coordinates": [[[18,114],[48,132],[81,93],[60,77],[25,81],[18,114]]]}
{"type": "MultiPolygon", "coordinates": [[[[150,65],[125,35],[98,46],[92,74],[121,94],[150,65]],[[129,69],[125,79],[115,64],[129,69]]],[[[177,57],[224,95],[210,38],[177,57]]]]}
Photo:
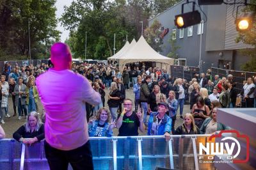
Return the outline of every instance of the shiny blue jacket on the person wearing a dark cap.
{"type": "MultiPolygon", "coordinates": [[[[154,122],[154,118],[156,118],[158,112],[151,112],[148,120],[148,135],[151,133],[152,124],[154,122]]],[[[164,114],[164,118],[160,123],[157,131],[157,135],[164,135],[165,132],[170,133],[172,130],[172,119],[164,114]]]]}

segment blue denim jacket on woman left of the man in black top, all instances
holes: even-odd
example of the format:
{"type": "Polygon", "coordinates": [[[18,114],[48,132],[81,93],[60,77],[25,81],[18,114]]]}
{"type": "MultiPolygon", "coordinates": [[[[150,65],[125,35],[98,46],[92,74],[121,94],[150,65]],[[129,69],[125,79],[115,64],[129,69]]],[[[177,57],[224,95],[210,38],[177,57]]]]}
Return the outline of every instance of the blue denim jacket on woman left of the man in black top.
{"type": "MultiPolygon", "coordinates": [[[[92,121],[92,123],[88,123],[88,132],[90,137],[94,137],[95,132],[98,127],[98,120],[92,121]]],[[[113,130],[109,129],[109,123],[106,122],[104,126],[104,130],[102,132],[102,137],[112,137],[113,136],[113,130]]]]}

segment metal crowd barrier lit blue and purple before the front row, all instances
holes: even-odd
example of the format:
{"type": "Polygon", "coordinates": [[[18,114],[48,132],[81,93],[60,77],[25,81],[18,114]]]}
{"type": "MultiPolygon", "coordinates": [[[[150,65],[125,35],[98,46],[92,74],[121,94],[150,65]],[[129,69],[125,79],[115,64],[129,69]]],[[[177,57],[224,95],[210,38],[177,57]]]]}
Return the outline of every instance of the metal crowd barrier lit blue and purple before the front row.
{"type": "MultiPolygon", "coordinates": [[[[210,135],[90,137],[94,169],[214,169],[198,164],[198,146],[210,135]]],[[[44,141],[26,146],[14,139],[0,140],[0,170],[49,169],[44,141]]],[[[68,169],[72,169],[69,167],[68,169]]]]}

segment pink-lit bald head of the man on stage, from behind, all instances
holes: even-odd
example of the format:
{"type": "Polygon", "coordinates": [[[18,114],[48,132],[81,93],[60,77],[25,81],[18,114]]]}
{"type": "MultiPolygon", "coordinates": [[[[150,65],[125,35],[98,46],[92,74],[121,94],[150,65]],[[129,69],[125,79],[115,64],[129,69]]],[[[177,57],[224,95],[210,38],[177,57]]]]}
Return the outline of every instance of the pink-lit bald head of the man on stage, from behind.
{"type": "Polygon", "coordinates": [[[68,45],[61,42],[54,43],[51,47],[51,61],[56,70],[70,69],[72,56],[68,45]]]}

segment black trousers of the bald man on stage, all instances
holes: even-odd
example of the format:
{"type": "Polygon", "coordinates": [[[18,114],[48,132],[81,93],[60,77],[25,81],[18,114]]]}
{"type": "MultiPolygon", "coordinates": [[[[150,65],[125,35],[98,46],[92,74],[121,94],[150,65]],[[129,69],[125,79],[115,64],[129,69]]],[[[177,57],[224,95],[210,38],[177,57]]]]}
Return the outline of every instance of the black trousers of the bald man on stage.
{"type": "Polygon", "coordinates": [[[51,170],[66,170],[68,163],[74,170],[93,169],[92,151],[90,142],[70,151],[52,148],[46,141],[44,143],[45,157],[51,170]]]}

